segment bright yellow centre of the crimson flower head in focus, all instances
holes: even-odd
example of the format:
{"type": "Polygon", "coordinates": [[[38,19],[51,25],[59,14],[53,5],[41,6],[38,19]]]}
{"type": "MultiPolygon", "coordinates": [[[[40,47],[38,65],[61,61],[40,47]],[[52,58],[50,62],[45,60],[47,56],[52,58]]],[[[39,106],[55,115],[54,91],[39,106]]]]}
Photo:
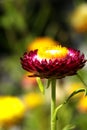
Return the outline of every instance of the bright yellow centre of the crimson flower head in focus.
{"type": "Polygon", "coordinates": [[[38,57],[41,59],[55,59],[64,58],[68,54],[68,49],[66,47],[61,47],[61,45],[46,47],[38,50],[38,57]]]}

